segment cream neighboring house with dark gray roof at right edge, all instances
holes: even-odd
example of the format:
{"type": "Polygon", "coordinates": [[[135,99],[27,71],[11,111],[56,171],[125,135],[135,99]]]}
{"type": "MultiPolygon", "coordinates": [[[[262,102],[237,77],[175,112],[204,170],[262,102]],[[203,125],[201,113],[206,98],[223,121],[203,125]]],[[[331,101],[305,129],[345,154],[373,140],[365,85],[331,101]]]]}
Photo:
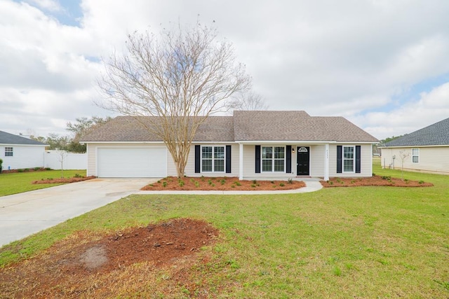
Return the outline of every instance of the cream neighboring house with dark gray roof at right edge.
{"type": "Polygon", "coordinates": [[[449,174],[449,118],[387,142],[381,148],[382,167],[449,174]]]}

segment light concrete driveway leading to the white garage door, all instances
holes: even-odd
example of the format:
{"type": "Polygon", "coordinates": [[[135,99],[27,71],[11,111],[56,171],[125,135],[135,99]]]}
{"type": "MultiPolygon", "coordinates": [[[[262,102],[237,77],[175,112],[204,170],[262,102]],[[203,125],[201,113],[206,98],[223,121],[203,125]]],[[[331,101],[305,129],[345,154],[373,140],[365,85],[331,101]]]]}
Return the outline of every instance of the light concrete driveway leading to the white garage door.
{"type": "Polygon", "coordinates": [[[0,246],[109,202],[137,193],[157,179],[91,179],[0,197],[0,246]]]}

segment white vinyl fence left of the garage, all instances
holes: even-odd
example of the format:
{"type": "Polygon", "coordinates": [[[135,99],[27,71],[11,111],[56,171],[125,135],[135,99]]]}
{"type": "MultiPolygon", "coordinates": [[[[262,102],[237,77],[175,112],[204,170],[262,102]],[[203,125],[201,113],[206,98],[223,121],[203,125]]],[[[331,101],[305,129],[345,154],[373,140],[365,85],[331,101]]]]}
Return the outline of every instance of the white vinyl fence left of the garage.
{"type": "Polygon", "coordinates": [[[66,153],[62,151],[46,151],[43,155],[43,167],[51,169],[87,169],[87,153],[66,153]]]}

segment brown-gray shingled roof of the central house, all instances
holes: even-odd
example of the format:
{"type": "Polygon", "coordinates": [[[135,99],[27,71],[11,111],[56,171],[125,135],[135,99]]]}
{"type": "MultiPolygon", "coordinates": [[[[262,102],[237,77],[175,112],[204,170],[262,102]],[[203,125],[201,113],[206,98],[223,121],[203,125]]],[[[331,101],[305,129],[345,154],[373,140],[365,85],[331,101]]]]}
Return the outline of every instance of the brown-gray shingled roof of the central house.
{"type": "MultiPolygon", "coordinates": [[[[119,116],[83,137],[95,141],[161,141],[135,118],[119,116]]],[[[358,141],[375,137],[342,117],[312,117],[304,111],[234,111],[234,116],[210,116],[194,141],[358,141]]]]}

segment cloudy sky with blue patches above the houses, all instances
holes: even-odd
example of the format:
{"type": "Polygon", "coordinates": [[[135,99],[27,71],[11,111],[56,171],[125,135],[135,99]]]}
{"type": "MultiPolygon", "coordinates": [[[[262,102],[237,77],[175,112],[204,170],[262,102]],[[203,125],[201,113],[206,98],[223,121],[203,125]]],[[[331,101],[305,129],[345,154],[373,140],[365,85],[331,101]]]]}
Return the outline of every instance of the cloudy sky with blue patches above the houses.
{"type": "Polygon", "coordinates": [[[447,0],[0,0],[0,130],[68,134],[111,115],[93,105],[101,58],[198,15],[269,109],[344,116],[378,139],[449,117],[447,0]]]}

